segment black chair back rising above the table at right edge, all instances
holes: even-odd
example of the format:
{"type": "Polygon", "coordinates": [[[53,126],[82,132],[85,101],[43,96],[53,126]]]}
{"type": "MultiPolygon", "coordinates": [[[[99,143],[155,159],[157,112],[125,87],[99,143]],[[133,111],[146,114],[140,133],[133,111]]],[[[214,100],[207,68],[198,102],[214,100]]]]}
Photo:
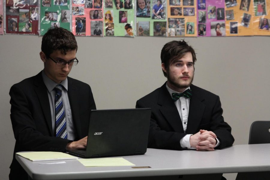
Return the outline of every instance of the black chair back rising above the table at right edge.
{"type": "Polygon", "coordinates": [[[255,121],[250,126],[248,144],[270,143],[270,121],[255,121]]]}

